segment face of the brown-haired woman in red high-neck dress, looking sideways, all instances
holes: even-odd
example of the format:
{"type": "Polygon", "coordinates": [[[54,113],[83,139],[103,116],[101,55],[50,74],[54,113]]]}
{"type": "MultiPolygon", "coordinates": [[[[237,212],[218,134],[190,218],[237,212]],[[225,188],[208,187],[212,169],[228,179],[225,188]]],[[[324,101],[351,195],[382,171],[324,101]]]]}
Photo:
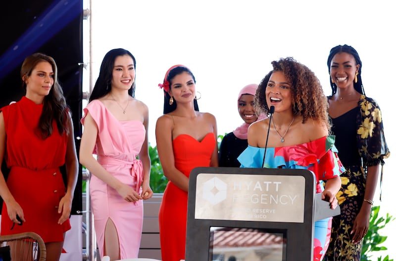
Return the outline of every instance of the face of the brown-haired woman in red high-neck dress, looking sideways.
{"type": "Polygon", "coordinates": [[[26,84],[27,97],[33,99],[33,97],[40,96],[40,99],[44,99],[54,82],[51,64],[47,61],[39,62],[31,74],[23,80],[26,84]]]}

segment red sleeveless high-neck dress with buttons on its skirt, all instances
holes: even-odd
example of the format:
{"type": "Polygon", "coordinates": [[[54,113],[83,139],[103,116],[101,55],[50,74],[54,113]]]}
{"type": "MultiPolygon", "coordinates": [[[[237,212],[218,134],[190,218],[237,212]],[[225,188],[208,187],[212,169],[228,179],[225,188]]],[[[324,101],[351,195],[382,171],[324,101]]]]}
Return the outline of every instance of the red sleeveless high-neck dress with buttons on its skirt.
{"type": "Polygon", "coordinates": [[[4,159],[10,173],[7,186],[23,210],[26,222],[15,224],[9,219],[3,203],[1,235],[35,232],[44,242],[63,241],[69,230],[69,219],[59,225],[58,205],[65,195],[65,185],[59,167],[65,163],[67,135],[59,134],[53,122],[52,135],[43,140],[36,127],[43,104],[35,104],[25,96],[1,109],[6,133],[4,159]]]}

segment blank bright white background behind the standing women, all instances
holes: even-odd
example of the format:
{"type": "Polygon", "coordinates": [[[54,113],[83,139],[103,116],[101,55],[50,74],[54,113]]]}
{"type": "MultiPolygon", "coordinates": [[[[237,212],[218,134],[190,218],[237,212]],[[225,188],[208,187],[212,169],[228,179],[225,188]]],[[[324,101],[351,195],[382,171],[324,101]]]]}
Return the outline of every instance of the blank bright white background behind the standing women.
{"type": "MultiPolygon", "coordinates": [[[[200,111],[214,114],[218,133],[224,134],[242,124],[236,102],[240,88],[258,84],[272,68],[272,60],[294,56],[316,73],[325,93],[330,94],[327,56],[333,46],[349,44],[360,54],[366,94],[380,104],[388,145],[391,152],[396,151],[392,135],[396,16],[389,1],[92,2],[93,78],[96,80],[108,50],[122,47],[135,55],[136,98],[149,106],[151,145],[163,109],[163,92],[157,85],[170,66],[184,64],[193,71],[202,96],[200,111]]],[[[89,42],[84,41],[87,53],[89,42]]],[[[87,77],[84,81],[88,88],[87,77]]],[[[381,205],[382,214],[396,216],[394,162],[392,156],[386,161],[383,201],[376,197],[375,204],[381,205]]],[[[396,221],[383,231],[389,235],[388,247],[396,243],[396,235],[390,233],[395,227],[396,221]]],[[[396,258],[395,249],[389,255],[396,258]]]]}

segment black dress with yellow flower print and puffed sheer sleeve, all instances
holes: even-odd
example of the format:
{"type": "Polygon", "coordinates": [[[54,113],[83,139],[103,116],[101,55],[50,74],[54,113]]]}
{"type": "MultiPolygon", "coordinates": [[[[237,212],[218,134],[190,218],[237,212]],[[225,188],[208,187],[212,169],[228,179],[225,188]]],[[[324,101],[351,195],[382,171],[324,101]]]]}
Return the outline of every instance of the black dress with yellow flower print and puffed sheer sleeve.
{"type": "Polygon", "coordinates": [[[341,215],[333,217],[326,260],[359,261],[363,241],[354,245],[350,231],[363,204],[367,167],[383,165],[390,151],[385,141],[381,110],[374,99],[361,95],[357,107],[332,122],[335,145],[346,172],[341,174],[342,185],[336,195],[341,215]]]}

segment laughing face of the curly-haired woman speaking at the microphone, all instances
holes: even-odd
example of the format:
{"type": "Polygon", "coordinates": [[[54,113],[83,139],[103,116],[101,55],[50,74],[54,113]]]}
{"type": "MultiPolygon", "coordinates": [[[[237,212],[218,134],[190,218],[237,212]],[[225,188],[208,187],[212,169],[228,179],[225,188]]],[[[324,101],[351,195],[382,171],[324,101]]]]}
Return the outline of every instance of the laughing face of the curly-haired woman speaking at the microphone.
{"type": "Polygon", "coordinates": [[[293,102],[291,87],[283,72],[273,72],[265,89],[268,108],[274,106],[275,112],[291,110],[293,102]]]}

